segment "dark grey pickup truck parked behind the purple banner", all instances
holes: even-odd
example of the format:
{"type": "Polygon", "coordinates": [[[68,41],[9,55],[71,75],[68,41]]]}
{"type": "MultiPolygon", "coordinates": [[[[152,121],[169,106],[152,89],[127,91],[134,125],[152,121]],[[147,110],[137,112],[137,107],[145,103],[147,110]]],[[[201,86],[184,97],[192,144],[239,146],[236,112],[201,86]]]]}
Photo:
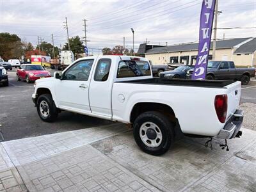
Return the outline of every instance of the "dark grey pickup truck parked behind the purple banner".
{"type": "MultiPolygon", "coordinates": [[[[187,77],[191,78],[193,69],[187,72],[187,77]]],[[[234,80],[248,84],[250,77],[255,77],[255,68],[236,68],[233,61],[209,61],[205,79],[209,80],[234,80]]]]}

